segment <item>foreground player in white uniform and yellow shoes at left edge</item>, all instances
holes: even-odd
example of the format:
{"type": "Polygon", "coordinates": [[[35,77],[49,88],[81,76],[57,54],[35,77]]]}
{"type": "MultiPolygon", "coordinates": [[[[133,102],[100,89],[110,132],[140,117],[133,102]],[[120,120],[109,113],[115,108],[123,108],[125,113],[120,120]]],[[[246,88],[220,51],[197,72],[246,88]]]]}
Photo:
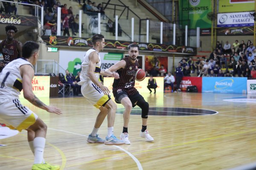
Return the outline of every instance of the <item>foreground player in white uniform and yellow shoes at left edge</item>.
{"type": "Polygon", "coordinates": [[[39,57],[39,45],[32,41],[25,42],[22,54],[23,58],[10,62],[0,74],[0,119],[12,129],[27,130],[29,147],[35,156],[32,170],[59,170],[59,166],[44,161],[47,125],[29,108],[20,104],[20,91],[23,89],[24,98],[38,108],[50,113],[62,113],[54,106],[45,105],[33,94],[33,65],[39,57]]]}

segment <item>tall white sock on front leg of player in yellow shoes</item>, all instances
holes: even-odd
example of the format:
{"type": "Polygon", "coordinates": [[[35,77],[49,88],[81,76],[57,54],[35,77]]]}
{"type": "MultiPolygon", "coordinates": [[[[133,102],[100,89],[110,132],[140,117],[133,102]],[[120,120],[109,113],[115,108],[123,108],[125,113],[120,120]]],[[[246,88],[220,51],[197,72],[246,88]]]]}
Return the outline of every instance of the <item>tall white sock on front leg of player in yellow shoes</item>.
{"type": "Polygon", "coordinates": [[[34,164],[41,164],[44,159],[45,138],[36,137],[34,139],[33,144],[34,144],[34,151],[35,151],[34,164]]]}

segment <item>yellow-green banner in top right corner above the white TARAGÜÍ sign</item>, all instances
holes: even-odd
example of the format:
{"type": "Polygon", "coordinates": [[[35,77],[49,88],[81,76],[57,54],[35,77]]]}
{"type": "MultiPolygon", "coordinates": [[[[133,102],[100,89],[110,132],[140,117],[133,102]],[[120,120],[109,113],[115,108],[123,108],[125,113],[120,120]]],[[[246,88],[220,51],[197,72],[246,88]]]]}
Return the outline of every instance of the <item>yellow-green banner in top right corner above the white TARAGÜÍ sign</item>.
{"type": "Polygon", "coordinates": [[[218,13],[254,11],[254,0],[218,0],[218,13]]]}

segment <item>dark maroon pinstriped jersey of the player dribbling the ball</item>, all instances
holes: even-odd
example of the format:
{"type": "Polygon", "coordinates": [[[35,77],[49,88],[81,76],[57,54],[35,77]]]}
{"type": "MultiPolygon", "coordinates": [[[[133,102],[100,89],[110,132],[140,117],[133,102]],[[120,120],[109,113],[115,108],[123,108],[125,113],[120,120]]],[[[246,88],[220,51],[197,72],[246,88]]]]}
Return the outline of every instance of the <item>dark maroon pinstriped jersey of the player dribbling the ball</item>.
{"type": "Polygon", "coordinates": [[[119,79],[114,79],[113,82],[113,93],[118,89],[126,91],[128,95],[133,95],[137,93],[137,89],[134,88],[135,85],[135,74],[139,67],[139,63],[136,60],[135,63],[131,63],[129,57],[123,58],[126,65],[125,68],[120,68],[116,72],[119,74],[119,79]]]}

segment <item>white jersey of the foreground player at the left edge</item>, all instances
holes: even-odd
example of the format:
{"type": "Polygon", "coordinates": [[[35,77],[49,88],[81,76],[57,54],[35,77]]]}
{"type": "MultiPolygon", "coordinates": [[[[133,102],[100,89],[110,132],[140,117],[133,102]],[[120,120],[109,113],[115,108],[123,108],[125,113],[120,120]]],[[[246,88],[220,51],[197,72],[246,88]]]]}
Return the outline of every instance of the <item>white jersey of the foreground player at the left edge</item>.
{"type": "MultiPolygon", "coordinates": [[[[24,58],[9,62],[0,73],[0,103],[1,99],[18,99],[22,90],[20,66],[33,65],[24,58]]],[[[2,100],[3,101],[3,100],[2,100]]]]}

